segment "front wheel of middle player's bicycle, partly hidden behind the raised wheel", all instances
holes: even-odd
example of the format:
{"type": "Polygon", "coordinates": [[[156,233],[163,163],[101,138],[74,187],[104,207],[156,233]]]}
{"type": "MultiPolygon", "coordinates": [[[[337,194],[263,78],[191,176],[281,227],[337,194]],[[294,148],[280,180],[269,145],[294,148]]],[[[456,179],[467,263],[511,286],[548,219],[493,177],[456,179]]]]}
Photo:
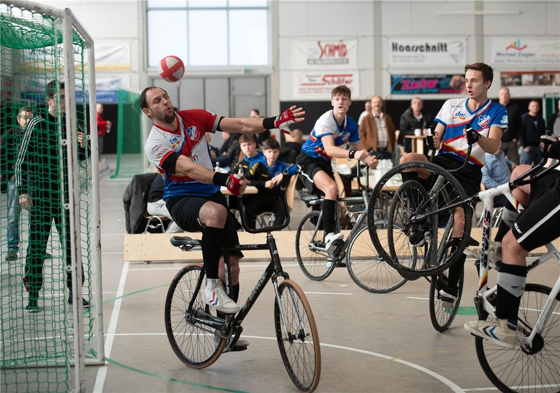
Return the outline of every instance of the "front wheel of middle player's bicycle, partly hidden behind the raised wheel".
{"type": "MultiPolygon", "coordinates": [[[[378,229],[387,229],[387,220],[378,220],[375,225],[378,229]]],[[[346,253],[346,268],[352,280],[360,288],[372,293],[389,293],[407,282],[376,252],[371,244],[367,226],[363,226],[350,239],[346,253]]]]}

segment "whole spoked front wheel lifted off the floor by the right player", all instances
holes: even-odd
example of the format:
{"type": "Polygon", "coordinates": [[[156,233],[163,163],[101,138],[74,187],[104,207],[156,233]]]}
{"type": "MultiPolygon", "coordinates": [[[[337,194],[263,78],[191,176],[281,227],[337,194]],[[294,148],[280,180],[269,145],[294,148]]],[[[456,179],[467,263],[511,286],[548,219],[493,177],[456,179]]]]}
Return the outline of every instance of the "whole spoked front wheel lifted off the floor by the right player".
{"type": "Polygon", "coordinates": [[[444,271],[460,258],[469,240],[473,214],[469,203],[459,205],[462,213],[454,214],[455,207],[448,207],[465,200],[463,187],[438,165],[422,161],[396,165],[377,182],[368,203],[367,226],[375,249],[409,279],[444,271]],[[430,177],[413,179],[416,173],[410,171],[427,171],[430,177]],[[386,230],[375,226],[378,210],[388,212],[386,230]],[[437,210],[441,211],[433,213],[437,210]],[[460,247],[450,253],[455,220],[464,225],[457,234],[460,247]]]}

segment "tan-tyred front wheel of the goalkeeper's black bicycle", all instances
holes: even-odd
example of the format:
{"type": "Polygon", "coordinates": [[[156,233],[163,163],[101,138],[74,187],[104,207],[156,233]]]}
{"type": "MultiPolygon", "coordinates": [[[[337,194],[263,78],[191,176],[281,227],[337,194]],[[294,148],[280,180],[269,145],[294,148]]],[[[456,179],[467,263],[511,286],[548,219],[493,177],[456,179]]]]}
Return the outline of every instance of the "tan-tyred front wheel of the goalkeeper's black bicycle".
{"type": "Polygon", "coordinates": [[[292,280],[278,285],[274,302],[274,325],[278,348],[286,371],[297,389],[312,392],[321,377],[319,334],[304,292],[292,280]]]}

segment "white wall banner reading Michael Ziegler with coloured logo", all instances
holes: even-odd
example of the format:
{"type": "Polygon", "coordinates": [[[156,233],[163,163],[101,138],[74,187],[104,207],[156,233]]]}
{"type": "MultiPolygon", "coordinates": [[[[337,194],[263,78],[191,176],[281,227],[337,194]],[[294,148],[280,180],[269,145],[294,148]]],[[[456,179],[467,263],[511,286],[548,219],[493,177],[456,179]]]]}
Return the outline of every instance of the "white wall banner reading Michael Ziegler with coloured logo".
{"type": "Polygon", "coordinates": [[[558,65],[560,41],[493,38],[492,63],[558,65]]]}

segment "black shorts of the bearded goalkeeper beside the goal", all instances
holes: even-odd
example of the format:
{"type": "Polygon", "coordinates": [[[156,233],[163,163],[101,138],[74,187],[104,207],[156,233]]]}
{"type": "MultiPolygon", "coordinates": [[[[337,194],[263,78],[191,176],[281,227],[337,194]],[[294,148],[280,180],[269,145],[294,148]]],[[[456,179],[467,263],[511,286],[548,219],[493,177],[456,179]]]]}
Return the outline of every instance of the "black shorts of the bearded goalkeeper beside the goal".
{"type": "MultiPolygon", "coordinates": [[[[174,197],[166,202],[166,206],[171,218],[181,229],[189,232],[198,232],[204,229],[204,226],[202,226],[198,220],[198,212],[202,205],[208,201],[219,203],[227,209],[226,225],[223,227],[223,245],[239,245],[235,218],[232,216],[230,208],[227,206],[226,197],[223,196],[220,191],[209,197],[174,197]]],[[[243,257],[243,253],[237,250],[230,252],[230,254],[239,255],[240,258],[243,257]]]]}

